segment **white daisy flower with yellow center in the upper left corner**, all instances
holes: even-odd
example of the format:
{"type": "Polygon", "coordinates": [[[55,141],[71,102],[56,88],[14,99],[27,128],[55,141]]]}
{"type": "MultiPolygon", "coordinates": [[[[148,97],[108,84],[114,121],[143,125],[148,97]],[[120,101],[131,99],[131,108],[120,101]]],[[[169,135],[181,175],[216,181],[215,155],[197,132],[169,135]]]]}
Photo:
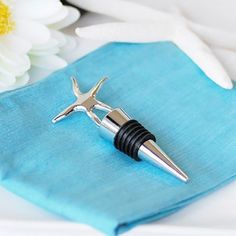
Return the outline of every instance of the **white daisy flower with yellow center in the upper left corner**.
{"type": "Polygon", "coordinates": [[[50,72],[66,66],[59,54],[76,45],[58,30],[79,16],[59,0],[0,0],[0,91],[25,85],[32,67],[50,72]]]}

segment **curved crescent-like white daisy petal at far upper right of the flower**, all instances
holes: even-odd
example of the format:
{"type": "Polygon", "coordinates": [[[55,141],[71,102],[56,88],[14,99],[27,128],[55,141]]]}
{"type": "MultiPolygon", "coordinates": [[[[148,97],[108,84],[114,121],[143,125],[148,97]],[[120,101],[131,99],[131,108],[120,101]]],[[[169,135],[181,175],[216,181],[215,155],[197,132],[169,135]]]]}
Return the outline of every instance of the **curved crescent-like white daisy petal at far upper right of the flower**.
{"type": "Polygon", "coordinates": [[[50,25],[51,28],[62,29],[62,28],[65,28],[65,27],[73,24],[74,22],[76,22],[79,19],[79,17],[80,17],[79,10],[77,10],[74,7],[67,7],[67,9],[68,9],[67,16],[63,20],[50,25]]]}

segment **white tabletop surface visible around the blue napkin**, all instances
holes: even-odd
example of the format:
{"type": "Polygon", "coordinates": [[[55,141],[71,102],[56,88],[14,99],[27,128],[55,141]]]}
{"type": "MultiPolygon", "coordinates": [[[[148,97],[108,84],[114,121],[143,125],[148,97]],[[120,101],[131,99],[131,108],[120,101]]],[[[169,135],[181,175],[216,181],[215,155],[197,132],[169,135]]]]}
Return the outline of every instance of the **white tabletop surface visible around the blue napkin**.
{"type": "MultiPolygon", "coordinates": [[[[148,4],[153,4],[153,1],[147,2],[148,4]]],[[[234,6],[236,7],[236,4],[234,6]]],[[[195,13],[194,17],[196,15],[195,13]]],[[[95,19],[98,22],[107,20],[90,15],[81,20],[79,24],[87,25],[93,23],[95,19]]],[[[71,27],[67,32],[71,33],[74,27],[71,27]]],[[[102,44],[103,42],[80,40],[77,50],[73,55],[68,56],[67,59],[73,61],[102,44]]],[[[233,182],[167,218],[149,225],[138,226],[125,235],[233,236],[236,235],[235,199],[236,182],[233,182]]],[[[61,219],[0,187],[0,235],[95,236],[101,235],[101,233],[90,226],[61,219]]]]}

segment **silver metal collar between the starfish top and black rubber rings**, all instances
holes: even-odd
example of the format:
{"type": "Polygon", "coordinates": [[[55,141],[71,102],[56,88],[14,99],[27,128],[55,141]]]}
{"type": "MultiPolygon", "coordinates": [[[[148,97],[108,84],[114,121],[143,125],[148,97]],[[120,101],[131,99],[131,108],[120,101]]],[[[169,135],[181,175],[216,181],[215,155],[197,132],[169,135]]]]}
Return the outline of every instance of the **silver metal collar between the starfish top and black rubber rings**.
{"type": "Polygon", "coordinates": [[[100,123],[101,135],[113,142],[115,135],[122,125],[130,120],[130,117],[120,108],[109,112],[100,123]]]}

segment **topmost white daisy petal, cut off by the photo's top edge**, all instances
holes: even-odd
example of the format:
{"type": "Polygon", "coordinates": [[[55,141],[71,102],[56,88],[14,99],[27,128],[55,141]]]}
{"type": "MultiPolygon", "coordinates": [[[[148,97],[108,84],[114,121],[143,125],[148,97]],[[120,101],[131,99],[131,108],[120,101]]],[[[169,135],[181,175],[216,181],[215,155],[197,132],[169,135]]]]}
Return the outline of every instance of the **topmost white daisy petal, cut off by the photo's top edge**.
{"type": "Polygon", "coordinates": [[[58,0],[17,0],[13,7],[15,17],[39,20],[54,15],[62,8],[62,3],[58,0]]]}

